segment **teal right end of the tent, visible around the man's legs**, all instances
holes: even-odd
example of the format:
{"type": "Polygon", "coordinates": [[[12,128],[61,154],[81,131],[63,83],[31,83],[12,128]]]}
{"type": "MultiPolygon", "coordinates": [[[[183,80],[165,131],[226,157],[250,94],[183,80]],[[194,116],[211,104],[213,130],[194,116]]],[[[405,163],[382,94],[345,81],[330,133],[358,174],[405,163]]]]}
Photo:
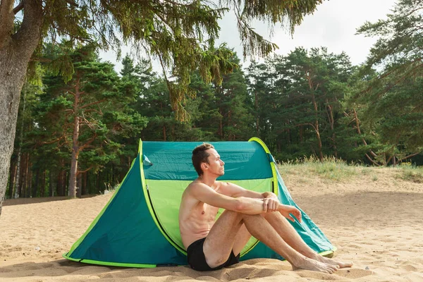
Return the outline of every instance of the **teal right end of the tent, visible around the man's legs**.
{"type": "MultiPolygon", "coordinates": [[[[286,188],[285,183],[283,183],[282,177],[279,172],[276,170],[278,176],[278,198],[279,201],[283,204],[289,204],[295,206],[298,209],[297,204],[293,201],[293,198],[290,196],[288,189],[286,188]]],[[[288,221],[295,228],[295,230],[300,234],[302,240],[316,252],[326,252],[330,250],[335,250],[335,247],[329,242],[324,233],[314,224],[314,222],[305,214],[305,212],[300,209],[302,214],[302,222],[299,223],[297,220],[295,222],[288,221]]],[[[254,249],[244,255],[241,259],[255,259],[255,258],[271,258],[271,259],[283,259],[280,255],[276,254],[269,247],[264,245],[264,243],[259,242],[254,249]]]]}

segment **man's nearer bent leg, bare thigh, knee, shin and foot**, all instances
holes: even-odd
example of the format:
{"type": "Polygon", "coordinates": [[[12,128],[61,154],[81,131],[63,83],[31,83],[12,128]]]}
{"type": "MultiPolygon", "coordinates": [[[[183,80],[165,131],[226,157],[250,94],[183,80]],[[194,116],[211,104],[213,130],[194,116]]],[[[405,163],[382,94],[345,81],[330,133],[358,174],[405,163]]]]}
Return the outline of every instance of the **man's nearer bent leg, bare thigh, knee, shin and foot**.
{"type": "Polygon", "coordinates": [[[317,262],[294,250],[264,217],[231,211],[223,212],[204,241],[204,255],[210,267],[226,262],[233,249],[236,235],[243,224],[251,235],[285,257],[293,265],[293,269],[309,269],[325,273],[333,273],[338,269],[338,266],[317,262]]]}

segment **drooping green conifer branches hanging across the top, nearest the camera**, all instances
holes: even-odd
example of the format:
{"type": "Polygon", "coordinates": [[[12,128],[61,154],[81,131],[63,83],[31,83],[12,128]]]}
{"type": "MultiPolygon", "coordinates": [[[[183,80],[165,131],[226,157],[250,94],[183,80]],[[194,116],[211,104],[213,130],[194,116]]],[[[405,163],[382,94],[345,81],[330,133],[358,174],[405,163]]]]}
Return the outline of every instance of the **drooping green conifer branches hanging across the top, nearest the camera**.
{"type": "MultiPolygon", "coordinates": [[[[225,47],[215,47],[220,31],[218,21],[224,13],[231,10],[235,13],[243,55],[267,56],[277,46],[257,34],[250,26],[252,21],[266,20],[271,25],[282,23],[292,33],[295,25],[321,2],[225,0],[214,4],[207,0],[47,0],[36,6],[42,10],[44,43],[68,40],[68,49],[75,47],[76,42],[91,43],[102,49],[116,49],[118,56],[122,44],[131,44],[139,54],[142,51],[159,59],[164,73],[170,71],[175,78],[166,78],[175,118],[188,121],[184,104],[193,94],[189,87],[191,73],[199,70],[206,83],[214,80],[219,84],[222,75],[235,67],[231,63],[231,52],[225,47]]],[[[29,6],[24,7],[24,18],[30,14],[29,9],[29,6]]],[[[16,18],[12,26],[15,32],[19,32],[20,26],[20,19],[16,18]]],[[[42,53],[42,44],[36,53],[42,53]]],[[[62,73],[67,81],[71,79],[73,68],[67,51],[63,53],[51,63],[51,68],[55,73],[62,73]]]]}

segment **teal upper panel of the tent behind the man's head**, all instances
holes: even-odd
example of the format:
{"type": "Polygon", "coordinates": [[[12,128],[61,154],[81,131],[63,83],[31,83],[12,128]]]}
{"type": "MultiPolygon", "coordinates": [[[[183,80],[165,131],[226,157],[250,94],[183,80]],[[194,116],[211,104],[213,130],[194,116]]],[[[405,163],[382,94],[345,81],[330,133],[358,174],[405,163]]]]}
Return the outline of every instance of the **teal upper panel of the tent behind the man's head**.
{"type": "MultiPolygon", "coordinates": [[[[210,142],[225,162],[219,180],[271,178],[269,157],[257,142],[210,142]]],[[[195,180],[192,150],[202,142],[142,142],[146,179],[195,180]]]]}

